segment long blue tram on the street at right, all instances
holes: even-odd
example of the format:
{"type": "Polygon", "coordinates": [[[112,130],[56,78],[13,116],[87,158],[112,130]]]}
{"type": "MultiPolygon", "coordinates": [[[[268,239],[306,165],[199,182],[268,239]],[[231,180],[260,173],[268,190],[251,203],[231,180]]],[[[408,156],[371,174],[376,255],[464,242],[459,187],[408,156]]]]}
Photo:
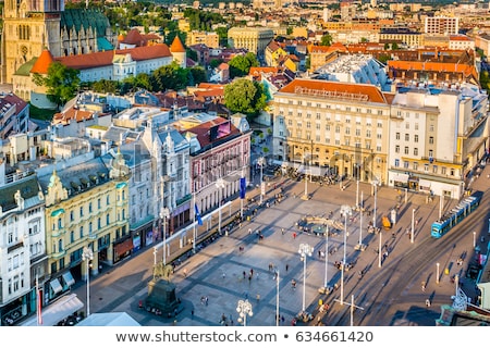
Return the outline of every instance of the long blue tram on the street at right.
{"type": "Polygon", "coordinates": [[[451,228],[478,208],[481,196],[483,196],[482,191],[476,191],[471,196],[465,197],[456,207],[432,223],[430,235],[433,238],[441,238],[445,235],[451,228]]]}

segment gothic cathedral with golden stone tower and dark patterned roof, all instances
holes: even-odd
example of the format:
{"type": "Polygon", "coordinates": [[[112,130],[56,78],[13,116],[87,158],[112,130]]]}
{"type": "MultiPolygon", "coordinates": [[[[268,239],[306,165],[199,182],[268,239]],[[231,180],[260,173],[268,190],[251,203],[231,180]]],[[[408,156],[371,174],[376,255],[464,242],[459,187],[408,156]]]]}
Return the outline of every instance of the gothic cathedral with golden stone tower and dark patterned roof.
{"type": "Polygon", "coordinates": [[[44,49],[53,57],[113,49],[117,35],[98,10],[64,9],[64,0],[4,0],[1,83],[44,49]]]}

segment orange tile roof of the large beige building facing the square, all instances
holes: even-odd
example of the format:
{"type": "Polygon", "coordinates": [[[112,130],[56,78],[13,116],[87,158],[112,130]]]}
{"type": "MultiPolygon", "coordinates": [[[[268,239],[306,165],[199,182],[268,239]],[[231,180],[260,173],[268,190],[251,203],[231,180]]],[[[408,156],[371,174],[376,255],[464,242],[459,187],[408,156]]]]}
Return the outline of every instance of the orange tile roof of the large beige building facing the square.
{"type": "Polygon", "coordinates": [[[330,96],[330,98],[387,103],[384,95],[376,86],[330,80],[296,78],[291,84],[281,88],[279,92],[303,94],[313,97],[320,97],[321,94],[324,94],[326,97],[330,96]]]}

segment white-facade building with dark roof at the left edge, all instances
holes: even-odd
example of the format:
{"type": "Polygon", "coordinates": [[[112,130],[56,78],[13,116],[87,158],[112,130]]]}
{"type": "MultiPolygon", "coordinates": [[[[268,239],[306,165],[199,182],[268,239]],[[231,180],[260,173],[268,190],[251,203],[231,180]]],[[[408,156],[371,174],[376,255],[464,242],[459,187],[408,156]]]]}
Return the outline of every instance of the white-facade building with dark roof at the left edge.
{"type": "Polygon", "coordinates": [[[34,277],[46,272],[35,263],[46,253],[44,196],[35,175],[5,184],[0,196],[0,325],[11,325],[28,312],[34,277]]]}

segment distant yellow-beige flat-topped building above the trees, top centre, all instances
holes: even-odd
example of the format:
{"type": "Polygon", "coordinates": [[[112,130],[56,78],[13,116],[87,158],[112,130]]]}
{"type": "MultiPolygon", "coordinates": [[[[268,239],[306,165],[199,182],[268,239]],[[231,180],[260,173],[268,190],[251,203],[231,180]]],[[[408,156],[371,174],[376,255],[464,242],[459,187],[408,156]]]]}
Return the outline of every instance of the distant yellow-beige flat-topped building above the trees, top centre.
{"type": "Polygon", "coordinates": [[[245,48],[257,57],[264,57],[267,45],[274,38],[274,32],[265,27],[232,27],[228,30],[228,42],[232,48],[245,48]]]}

